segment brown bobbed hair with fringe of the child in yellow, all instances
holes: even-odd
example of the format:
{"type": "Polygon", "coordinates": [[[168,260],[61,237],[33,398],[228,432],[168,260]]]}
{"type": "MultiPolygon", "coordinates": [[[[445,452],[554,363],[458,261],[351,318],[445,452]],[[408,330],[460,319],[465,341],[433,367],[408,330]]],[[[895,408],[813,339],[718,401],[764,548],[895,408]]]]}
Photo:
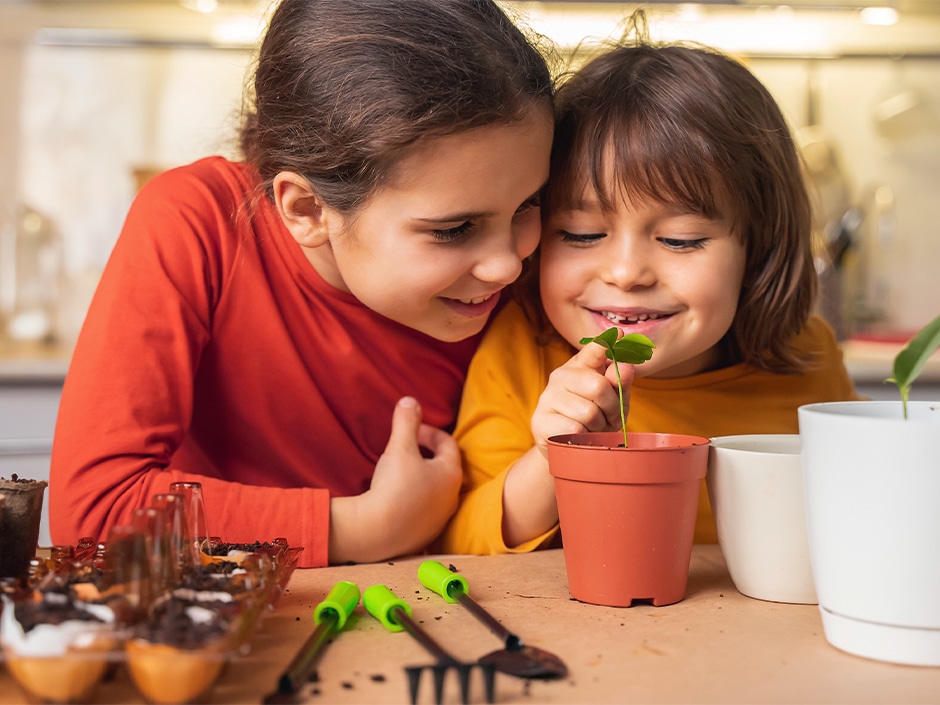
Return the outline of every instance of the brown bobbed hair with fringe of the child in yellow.
{"type": "Polygon", "coordinates": [[[816,291],[810,201],[786,121],[747,68],[705,47],[640,42],[572,74],[556,96],[543,217],[585,188],[603,208],[628,197],[731,218],[746,256],[723,356],[805,368],[793,337],[816,291]]]}

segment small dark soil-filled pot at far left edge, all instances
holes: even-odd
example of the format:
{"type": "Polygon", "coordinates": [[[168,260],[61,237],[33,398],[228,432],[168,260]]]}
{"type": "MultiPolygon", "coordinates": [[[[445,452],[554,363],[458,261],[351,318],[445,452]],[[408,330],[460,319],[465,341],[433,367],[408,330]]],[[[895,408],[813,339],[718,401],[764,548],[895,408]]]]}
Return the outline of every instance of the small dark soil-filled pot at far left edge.
{"type": "MultiPolygon", "coordinates": [[[[15,476],[14,476],[15,478],[15,476]]],[[[0,478],[0,578],[22,578],[36,555],[45,480],[0,478]]]]}

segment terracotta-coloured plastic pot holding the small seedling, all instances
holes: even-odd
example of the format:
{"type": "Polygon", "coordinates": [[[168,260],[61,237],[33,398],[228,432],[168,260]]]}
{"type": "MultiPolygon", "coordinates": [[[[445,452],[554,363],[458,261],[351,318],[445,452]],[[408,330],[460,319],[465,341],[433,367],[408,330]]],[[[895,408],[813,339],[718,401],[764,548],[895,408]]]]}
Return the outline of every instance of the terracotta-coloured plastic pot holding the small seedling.
{"type": "Polygon", "coordinates": [[[576,433],[548,439],[568,590],[629,607],[685,597],[709,440],[670,433],[576,433]]]}

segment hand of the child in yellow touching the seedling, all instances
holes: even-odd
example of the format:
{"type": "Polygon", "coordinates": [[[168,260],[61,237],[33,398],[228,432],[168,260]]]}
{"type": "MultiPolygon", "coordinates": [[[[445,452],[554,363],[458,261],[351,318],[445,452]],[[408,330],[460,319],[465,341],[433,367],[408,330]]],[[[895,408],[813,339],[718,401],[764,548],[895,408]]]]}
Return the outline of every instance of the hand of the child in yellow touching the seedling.
{"type": "MultiPolygon", "coordinates": [[[[629,409],[633,365],[620,365],[624,387],[624,413],[629,409]]],[[[585,345],[568,362],[551,373],[548,385],[532,414],[532,435],[542,456],[548,456],[547,439],[562,433],[617,431],[620,399],[613,364],[600,345],[585,345]]]]}

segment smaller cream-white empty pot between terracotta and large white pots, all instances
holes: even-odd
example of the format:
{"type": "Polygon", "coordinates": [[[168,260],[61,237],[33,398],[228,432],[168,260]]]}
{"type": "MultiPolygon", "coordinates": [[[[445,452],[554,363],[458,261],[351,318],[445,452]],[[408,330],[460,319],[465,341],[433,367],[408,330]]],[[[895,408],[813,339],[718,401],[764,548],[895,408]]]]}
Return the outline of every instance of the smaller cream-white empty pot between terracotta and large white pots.
{"type": "Polygon", "coordinates": [[[707,487],[738,591],[758,600],[815,604],[799,435],[712,438],[707,487]]]}

